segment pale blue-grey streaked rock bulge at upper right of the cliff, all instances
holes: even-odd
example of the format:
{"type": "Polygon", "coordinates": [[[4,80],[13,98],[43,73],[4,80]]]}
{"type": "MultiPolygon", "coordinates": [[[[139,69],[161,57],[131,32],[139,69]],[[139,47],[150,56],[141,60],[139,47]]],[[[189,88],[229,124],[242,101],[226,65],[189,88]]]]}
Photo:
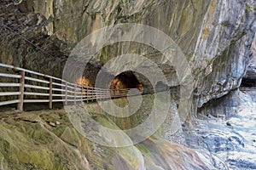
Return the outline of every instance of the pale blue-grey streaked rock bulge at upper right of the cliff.
{"type": "Polygon", "coordinates": [[[197,74],[202,76],[199,105],[240,86],[255,26],[254,1],[212,1],[194,54],[197,74]]]}

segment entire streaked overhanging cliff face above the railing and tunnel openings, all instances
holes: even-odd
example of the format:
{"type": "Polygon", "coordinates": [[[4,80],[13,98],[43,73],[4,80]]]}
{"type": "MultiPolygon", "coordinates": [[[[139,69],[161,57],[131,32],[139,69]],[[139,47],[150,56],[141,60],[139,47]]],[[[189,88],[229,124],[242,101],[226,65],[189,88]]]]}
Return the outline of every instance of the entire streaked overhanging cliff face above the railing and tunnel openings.
{"type": "MultiPolygon", "coordinates": [[[[255,46],[253,0],[2,3],[1,62],[61,77],[71,49],[92,31],[118,23],[141,23],[164,31],[182,49],[197,81],[196,99],[200,107],[240,86],[255,46]]],[[[157,52],[148,53],[153,49],[136,47],[137,44],[119,42],[103,48],[98,61],[104,64],[127,52],[147,52],[144,55],[149,59],[160,57],[157,52]]],[[[248,75],[255,70],[251,63],[248,75]]],[[[166,75],[172,77],[170,84],[177,86],[173,71],[167,68],[166,75]]]]}

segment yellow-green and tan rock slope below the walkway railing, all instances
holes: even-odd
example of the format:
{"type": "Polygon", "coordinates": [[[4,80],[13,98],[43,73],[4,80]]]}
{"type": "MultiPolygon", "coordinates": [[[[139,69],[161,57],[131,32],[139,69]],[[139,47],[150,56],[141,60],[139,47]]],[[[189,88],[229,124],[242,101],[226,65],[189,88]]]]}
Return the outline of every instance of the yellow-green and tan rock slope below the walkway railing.
{"type": "MultiPolygon", "coordinates": [[[[125,99],[117,99],[118,104],[124,102],[125,99]]],[[[97,122],[119,128],[110,117],[95,115],[98,105],[87,107],[97,122]]],[[[200,152],[157,135],[129,147],[95,144],[78,133],[65,110],[1,113],[0,131],[0,168],[3,170],[214,168],[200,152]]],[[[122,135],[117,138],[125,142],[122,135]]]]}

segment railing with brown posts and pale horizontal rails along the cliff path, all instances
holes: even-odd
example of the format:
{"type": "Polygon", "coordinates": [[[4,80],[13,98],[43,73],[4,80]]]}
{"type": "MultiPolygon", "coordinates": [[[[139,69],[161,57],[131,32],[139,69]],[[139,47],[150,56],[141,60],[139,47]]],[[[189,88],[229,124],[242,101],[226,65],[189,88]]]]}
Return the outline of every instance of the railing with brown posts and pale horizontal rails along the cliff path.
{"type": "Polygon", "coordinates": [[[0,100],[0,106],[17,104],[17,110],[19,111],[23,111],[25,103],[48,103],[49,109],[52,109],[54,102],[76,105],[78,102],[89,102],[95,99],[124,97],[127,96],[128,90],[130,96],[141,94],[134,88],[113,90],[84,87],[57,77],[0,63],[0,69],[2,68],[12,70],[11,72],[15,73],[0,72],[0,88],[17,88],[18,90],[12,92],[1,90],[0,97],[12,96],[12,99],[0,100]],[[3,81],[3,77],[9,78],[11,81],[3,81]],[[29,99],[29,97],[35,99],[29,99]]]}

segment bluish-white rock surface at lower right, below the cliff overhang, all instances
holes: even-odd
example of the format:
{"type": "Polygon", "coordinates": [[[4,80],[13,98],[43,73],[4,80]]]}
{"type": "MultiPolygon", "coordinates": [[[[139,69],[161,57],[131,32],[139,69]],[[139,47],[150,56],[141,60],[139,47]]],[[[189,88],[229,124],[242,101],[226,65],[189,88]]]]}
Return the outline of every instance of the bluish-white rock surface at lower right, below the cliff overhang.
{"type": "Polygon", "coordinates": [[[183,132],[190,147],[208,150],[230,169],[255,169],[255,91],[239,91],[236,97],[240,100],[236,114],[224,116],[224,112],[216,110],[223,116],[201,115],[192,131],[184,129],[183,132]]]}

